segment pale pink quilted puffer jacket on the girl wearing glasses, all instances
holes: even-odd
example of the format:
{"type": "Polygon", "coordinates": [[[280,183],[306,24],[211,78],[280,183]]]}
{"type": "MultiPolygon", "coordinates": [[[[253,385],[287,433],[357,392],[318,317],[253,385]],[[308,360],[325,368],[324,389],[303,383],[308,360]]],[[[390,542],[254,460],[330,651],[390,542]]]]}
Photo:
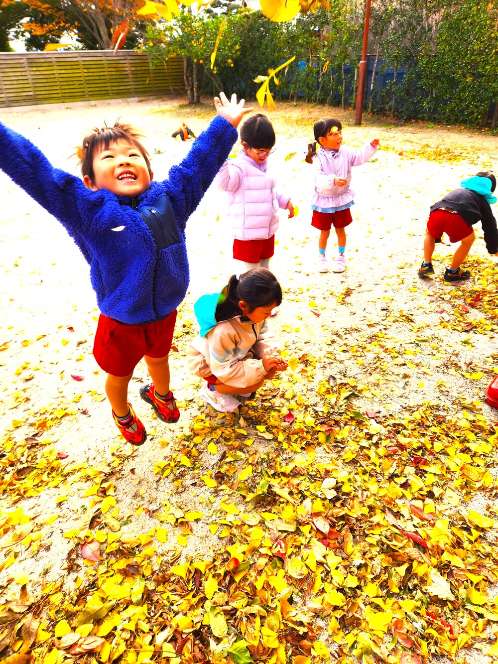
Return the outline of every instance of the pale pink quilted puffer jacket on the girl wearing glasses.
{"type": "Polygon", "coordinates": [[[268,240],[278,228],[278,208],[286,208],[290,197],[275,191],[275,178],[266,172],[268,159],[257,164],[241,151],[218,173],[218,182],[228,191],[228,218],[238,240],[268,240]]]}

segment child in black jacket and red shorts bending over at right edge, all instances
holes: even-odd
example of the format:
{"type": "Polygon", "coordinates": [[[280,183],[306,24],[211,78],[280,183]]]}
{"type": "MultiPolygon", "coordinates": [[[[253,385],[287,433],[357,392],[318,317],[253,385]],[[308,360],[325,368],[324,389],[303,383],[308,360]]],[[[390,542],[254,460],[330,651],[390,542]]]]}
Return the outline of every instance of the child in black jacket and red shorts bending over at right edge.
{"type": "Polygon", "coordinates": [[[450,191],[444,198],[430,208],[424,239],[424,262],[418,270],[420,277],[434,274],[432,254],[436,242],[441,242],[443,233],[450,242],[460,242],[454,253],[452,264],[444,272],[445,282],[458,282],[470,278],[469,270],[462,270],[461,264],[475,240],[473,224],[481,222],[484,241],[489,254],[498,256],[498,230],[496,219],[491,212],[491,203],[497,199],[492,195],[496,188],[493,173],[481,171],[477,175],[467,177],[460,183],[459,189],[450,191]]]}

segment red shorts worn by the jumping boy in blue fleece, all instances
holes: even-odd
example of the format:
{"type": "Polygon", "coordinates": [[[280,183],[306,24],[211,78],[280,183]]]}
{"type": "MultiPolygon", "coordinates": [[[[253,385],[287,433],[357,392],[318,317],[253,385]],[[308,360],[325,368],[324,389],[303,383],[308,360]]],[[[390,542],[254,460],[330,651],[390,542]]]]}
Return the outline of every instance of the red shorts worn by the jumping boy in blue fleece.
{"type": "Polygon", "coordinates": [[[100,314],[94,357],[100,369],[113,376],[129,376],[144,355],[165,357],[171,350],[177,310],[161,321],[126,325],[100,314]]]}

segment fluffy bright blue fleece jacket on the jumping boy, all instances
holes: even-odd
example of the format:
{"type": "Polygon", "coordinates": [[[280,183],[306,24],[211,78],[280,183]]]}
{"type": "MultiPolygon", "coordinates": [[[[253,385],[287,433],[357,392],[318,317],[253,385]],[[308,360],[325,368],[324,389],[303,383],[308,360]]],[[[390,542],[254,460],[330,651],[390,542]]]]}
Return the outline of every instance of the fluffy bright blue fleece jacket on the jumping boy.
{"type": "Polygon", "coordinates": [[[90,265],[100,311],[122,323],[160,320],[181,303],[189,286],[185,225],[224,163],[237,131],[216,116],[168,179],[152,181],[131,199],[52,167],[31,141],[0,122],[0,168],[58,219],[90,265]],[[159,248],[138,211],[166,194],[178,232],[159,248]],[[121,230],[120,229],[122,226],[121,230]],[[114,230],[113,230],[114,229],[114,230]]]}

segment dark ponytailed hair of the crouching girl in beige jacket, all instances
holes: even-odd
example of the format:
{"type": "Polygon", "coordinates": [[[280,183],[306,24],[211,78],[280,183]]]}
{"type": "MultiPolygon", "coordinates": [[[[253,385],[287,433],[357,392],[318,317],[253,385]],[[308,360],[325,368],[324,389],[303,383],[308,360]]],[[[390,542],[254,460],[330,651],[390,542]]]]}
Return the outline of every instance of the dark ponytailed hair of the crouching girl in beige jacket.
{"type": "Polygon", "coordinates": [[[278,307],[282,303],[282,288],[276,276],[266,268],[252,268],[238,279],[233,274],[228,282],[225,301],[216,306],[216,322],[228,321],[242,315],[238,307],[240,300],[248,305],[249,313],[270,304],[278,307]]]}

